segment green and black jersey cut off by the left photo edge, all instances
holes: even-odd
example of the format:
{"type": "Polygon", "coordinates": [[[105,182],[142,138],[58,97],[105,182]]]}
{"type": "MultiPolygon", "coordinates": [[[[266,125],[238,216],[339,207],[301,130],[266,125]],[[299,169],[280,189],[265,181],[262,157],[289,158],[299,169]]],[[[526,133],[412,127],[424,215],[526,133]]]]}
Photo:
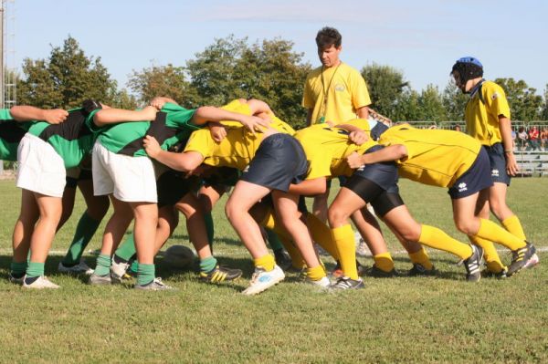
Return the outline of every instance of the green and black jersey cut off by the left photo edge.
{"type": "Polygon", "coordinates": [[[0,160],[17,161],[17,147],[32,122],[17,122],[9,109],[0,109],[0,160]]]}

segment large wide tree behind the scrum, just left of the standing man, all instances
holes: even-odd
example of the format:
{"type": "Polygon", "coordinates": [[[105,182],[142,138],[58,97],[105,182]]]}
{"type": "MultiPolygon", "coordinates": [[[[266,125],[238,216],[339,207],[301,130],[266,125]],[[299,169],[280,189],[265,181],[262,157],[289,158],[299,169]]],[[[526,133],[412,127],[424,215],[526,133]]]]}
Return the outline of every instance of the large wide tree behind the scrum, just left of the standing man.
{"type": "Polygon", "coordinates": [[[302,54],[282,39],[248,46],[248,38],[234,36],[215,43],[186,63],[189,76],[185,101],[191,106],[223,105],[230,99],[256,98],[268,102],[282,120],[294,127],[305,125],[300,107],[304,81],[311,70],[302,54]]]}

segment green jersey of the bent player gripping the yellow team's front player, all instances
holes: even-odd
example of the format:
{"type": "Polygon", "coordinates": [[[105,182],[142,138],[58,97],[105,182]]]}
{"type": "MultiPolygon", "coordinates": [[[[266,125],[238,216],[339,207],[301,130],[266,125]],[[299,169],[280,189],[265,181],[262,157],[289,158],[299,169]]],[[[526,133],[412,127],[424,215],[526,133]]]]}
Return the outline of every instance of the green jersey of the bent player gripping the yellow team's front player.
{"type": "Polygon", "coordinates": [[[166,103],[151,121],[121,122],[100,129],[100,144],[113,153],[132,157],[146,156],[142,140],[146,135],[153,136],[164,151],[172,150],[185,143],[190,134],[199,127],[189,121],[195,109],[184,109],[173,103],[166,103]]]}

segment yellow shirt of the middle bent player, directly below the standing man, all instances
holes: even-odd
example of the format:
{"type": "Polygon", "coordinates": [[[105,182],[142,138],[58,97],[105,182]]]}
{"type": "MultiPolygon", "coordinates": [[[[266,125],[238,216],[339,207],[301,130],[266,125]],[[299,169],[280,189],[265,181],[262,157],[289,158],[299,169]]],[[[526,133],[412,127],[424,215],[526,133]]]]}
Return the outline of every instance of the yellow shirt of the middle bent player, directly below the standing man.
{"type": "MultiPolygon", "coordinates": [[[[344,124],[355,125],[367,134],[371,130],[367,120],[351,120],[344,124]]],[[[309,161],[307,180],[352,175],[353,169],[348,166],[346,157],[353,151],[364,153],[376,142],[369,138],[364,144],[358,146],[348,139],[348,134],[347,130],[330,128],[327,124],[312,125],[295,133],[295,139],[300,141],[306,159],[309,161]]]]}

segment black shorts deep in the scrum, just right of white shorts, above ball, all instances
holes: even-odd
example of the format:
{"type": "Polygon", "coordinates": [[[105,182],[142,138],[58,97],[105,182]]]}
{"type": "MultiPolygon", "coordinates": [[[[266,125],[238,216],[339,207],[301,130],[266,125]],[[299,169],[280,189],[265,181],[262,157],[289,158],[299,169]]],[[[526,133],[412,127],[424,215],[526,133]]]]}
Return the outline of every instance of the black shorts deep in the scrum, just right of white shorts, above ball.
{"type": "Polygon", "coordinates": [[[186,193],[197,191],[201,185],[202,180],[197,176],[184,178],[183,172],[173,170],[163,172],[156,181],[158,207],[178,203],[186,193]]]}

